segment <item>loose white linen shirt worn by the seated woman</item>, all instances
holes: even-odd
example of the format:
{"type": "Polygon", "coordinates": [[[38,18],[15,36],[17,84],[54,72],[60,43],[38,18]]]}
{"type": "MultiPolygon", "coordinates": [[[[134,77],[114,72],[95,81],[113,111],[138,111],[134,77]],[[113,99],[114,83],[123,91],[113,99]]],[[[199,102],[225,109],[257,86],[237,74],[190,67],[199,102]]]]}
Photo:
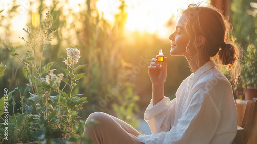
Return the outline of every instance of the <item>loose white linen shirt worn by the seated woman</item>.
{"type": "Polygon", "coordinates": [[[179,86],[176,98],[164,97],[144,120],[152,135],[139,135],[143,143],[232,143],[237,133],[237,110],[232,86],[213,60],[201,66],[179,86]]]}

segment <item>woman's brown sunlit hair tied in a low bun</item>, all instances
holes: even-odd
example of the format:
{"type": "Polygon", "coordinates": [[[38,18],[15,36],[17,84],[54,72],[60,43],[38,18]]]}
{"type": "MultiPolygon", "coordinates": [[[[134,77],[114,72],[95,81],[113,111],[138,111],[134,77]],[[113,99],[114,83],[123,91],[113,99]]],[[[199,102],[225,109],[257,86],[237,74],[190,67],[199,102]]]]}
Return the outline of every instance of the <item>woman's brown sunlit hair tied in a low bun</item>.
{"type": "Polygon", "coordinates": [[[192,58],[190,53],[196,51],[194,57],[198,66],[199,61],[205,58],[213,59],[220,70],[225,66],[230,72],[233,85],[236,86],[241,75],[242,46],[231,41],[232,26],[229,20],[211,5],[190,4],[182,14],[187,17],[185,29],[190,39],[186,52],[189,57],[192,58]],[[205,38],[201,46],[196,45],[199,36],[205,38]]]}

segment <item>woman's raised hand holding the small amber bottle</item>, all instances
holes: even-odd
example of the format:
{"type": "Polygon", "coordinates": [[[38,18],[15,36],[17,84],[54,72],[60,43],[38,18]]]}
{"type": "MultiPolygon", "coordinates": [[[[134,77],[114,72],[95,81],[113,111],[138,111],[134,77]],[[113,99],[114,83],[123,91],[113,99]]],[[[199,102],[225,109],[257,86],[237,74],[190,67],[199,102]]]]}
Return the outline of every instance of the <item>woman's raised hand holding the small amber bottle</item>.
{"type": "Polygon", "coordinates": [[[164,85],[167,76],[167,57],[162,63],[158,63],[158,55],[152,59],[148,66],[148,75],[154,85],[164,85]]]}

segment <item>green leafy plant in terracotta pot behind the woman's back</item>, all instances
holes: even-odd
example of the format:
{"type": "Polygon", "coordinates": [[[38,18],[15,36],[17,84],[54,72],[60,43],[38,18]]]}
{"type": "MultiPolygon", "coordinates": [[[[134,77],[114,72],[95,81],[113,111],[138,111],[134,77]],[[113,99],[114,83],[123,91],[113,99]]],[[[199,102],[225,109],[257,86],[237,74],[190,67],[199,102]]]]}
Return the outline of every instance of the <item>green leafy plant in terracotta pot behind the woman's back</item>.
{"type": "Polygon", "coordinates": [[[242,70],[242,84],[245,88],[245,99],[257,98],[257,40],[248,39],[247,50],[244,55],[242,70]]]}

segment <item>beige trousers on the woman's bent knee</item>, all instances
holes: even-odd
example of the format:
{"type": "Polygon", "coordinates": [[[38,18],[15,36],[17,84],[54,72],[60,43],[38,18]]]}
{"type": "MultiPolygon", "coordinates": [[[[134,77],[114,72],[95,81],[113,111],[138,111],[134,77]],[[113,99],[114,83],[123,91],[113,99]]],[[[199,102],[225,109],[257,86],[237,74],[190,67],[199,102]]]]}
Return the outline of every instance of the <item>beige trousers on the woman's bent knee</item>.
{"type": "Polygon", "coordinates": [[[142,144],[137,136],[141,135],[126,122],[102,112],[89,115],[86,123],[96,121],[96,124],[86,126],[84,136],[94,144],[142,144]]]}

